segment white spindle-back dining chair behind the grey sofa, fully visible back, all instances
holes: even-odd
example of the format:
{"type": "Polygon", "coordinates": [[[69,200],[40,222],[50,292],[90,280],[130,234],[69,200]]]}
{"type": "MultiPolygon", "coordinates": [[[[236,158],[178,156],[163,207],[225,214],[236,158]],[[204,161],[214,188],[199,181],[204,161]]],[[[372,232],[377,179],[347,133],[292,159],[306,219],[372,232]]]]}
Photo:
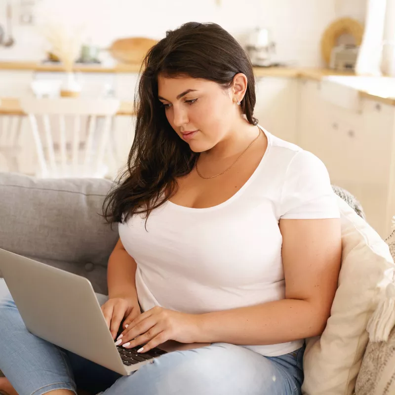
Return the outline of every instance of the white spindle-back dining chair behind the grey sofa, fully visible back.
{"type": "Polygon", "coordinates": [[[36,176],[105,177],[112,119],[119,100],[22,98],[36,146],[36,176]]]}

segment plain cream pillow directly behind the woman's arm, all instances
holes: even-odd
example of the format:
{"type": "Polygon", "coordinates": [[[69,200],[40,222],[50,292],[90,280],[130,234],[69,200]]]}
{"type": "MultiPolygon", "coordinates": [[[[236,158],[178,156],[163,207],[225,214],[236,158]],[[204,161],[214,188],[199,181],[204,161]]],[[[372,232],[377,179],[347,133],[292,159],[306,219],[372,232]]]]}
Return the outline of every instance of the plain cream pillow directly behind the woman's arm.
{"type": "Polygon", "coordinates": [[[382,293],[394,278],[384,240],[340,197],[342,266],[331,316],[320,338],[308,339],[304,356],[306,395],[354,392],[366,331],[382,293]]]}

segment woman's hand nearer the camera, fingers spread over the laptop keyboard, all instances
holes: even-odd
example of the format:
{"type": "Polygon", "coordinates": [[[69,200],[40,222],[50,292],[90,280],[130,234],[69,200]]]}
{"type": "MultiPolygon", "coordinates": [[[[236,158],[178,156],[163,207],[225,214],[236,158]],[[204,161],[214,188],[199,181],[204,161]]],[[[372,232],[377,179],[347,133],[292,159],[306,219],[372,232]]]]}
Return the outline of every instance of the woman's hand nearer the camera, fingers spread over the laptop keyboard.
{"type": "Polygon", "coordinates": [[[135,318],[119,335],[116,345],[122,344],[130,349],[147,343],[143,349],[138,350],[140,353],[146,353],[167,340],[195,343],[198,328],[198,315],[179,313],[157,306],[135,318]]]}

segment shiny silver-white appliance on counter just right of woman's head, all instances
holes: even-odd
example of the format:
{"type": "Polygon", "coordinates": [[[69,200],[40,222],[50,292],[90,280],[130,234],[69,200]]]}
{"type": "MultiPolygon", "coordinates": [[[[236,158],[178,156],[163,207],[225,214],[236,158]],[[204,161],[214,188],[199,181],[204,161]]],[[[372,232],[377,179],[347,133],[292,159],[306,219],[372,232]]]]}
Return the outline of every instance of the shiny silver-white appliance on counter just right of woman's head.
{"type": "Polygon", "coordinates": [[[271,56],[276,51],[276,43],[271,39],[269,29],[256,27],[247,37],[246,52],[253,66],[272,66],[271,56]]]}

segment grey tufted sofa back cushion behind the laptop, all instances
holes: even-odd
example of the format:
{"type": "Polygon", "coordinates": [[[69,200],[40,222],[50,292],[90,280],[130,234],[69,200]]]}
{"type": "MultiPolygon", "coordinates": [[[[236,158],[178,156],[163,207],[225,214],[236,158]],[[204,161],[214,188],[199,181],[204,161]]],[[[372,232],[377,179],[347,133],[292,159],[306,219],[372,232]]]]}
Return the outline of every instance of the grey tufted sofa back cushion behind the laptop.
{"type": "Polygon", "coordinates": [[[87,277],[107,293],[118,226],[102,213],[105,179],[37,179],[0,173],[0,248],[87,277]]]}

